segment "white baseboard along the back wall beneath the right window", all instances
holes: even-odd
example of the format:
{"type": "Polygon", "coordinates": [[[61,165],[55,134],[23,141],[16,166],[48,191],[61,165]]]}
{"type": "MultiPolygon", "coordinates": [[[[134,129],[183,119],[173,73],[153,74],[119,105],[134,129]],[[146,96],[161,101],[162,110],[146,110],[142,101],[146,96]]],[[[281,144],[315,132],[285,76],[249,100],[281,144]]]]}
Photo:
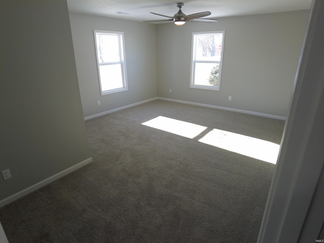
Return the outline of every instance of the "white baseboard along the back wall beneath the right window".
{"type": "Polygon", "coordinates": [[[208,107],[208,108],[213,108],[213,109],[234,111],[234,112],[245,113],[245,114],[250,114],[250,115],[259,115],[259,116],[264,116],[264,117],[274,118],[274,119],[279,119],[279,120],[286,120],[285,116],[270,115],[270,114],[249,111],[249,110],[239,110],[239,109],[234,109],[234,108],[228,108],[228,107],[222,107],[222,106],[216,106],[216,105],[207,105],[207,104],[195,103],[195,102],[190,102],[190,101],[174,100],[174,99],[162,98],[162,97],[157,97],[157,99],[178,102],[178,103],[183,103],[183,104],[188,104],[188,105],[203,106],[203,107],[208,107]]]}

